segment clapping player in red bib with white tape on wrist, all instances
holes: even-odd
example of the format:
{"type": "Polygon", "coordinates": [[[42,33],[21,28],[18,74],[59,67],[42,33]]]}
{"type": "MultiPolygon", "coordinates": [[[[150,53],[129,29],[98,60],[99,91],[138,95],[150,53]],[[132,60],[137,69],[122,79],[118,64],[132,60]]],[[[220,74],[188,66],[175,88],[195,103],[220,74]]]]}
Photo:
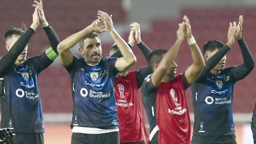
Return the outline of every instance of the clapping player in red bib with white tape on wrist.
{"type": "Polygon", "coordinates": [[[189,144],[190,118],[185,90],[204,68],[203,56],[192,36],[187,16],[179,24],[177,40],[170,50],[158,49],[149,56],[153,73],[144,79],[142,100],[150,123],[150,144],[189,144]],[[184,36],[192,52],[193,64],[178,76],[174,62],[184,36]]]}

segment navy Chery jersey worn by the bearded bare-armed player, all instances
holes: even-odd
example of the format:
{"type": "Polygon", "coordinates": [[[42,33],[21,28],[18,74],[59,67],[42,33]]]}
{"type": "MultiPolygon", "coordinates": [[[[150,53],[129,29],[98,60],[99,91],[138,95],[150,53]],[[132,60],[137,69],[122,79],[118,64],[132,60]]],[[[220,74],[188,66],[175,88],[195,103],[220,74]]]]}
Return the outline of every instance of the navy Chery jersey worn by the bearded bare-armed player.
{"type": "Polygon", "coordinates": [[[72,64],[65,67],[70,74],[74,102],[71,128],[118,128],[114,95],[116,60],[102,57],[98,65],[89,66],[84,57],[74,56],[72,64]]]}

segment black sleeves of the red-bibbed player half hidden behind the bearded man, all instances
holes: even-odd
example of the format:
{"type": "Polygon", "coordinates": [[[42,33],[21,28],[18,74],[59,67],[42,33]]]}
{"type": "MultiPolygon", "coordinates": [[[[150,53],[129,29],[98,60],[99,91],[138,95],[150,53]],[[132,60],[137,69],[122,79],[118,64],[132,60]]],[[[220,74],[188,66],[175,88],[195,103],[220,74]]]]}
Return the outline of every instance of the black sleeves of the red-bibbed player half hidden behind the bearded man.
{"type": "MultiPolygon", "coordinates": [[[[130,46],[130,44],[128,44],[130,46]]],[[[145,56],[147,62],[148,62],[148,58],[150,53],[152,52],[150,50],[150,48],[148,48],[148,46],[146,46],[146,44],[144,44],[144,42],[140,42],[139,44],[137,44],[138,47],[140,48],[140,50],[142,51],[143,55],[145,56]]],[[[131,48],[131,46],[130,46],[131,48]]],[[[120,50],[118,50],[117,52],[115,52],[114,54],[111,55],[111,57],[116,57],[116,58],[121,58],[122,54],[120,52],[120,50]]],[[[152,70],[150,69],[149,66],[146,66],[144,68],[141,68],[138,73],[136,73],[136,80],[137,80],[137,86],[138,89],[141,87],[142,82],[144,80],[144,78],[146,78],[146,76],[148,76],[149,74],[152,73],[152,70]]]]}

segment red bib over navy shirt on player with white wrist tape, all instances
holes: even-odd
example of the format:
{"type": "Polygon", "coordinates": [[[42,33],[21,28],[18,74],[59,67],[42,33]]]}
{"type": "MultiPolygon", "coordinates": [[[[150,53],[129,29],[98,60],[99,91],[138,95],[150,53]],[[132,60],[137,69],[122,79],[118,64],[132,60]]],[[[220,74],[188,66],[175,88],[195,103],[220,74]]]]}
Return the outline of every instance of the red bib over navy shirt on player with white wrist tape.
{"type": "Polygon", "coordinates": [[[150,132],[146,133],[151,143],[190,144],[190,117],[185,96],[188,86],[183,74],[171,82],[161,82],[157,88],[152,85],[151,76],[144,80],[142,99],[150,124],[150,132]],[[154,132],[156,127],[159,129],[154,132]]]}

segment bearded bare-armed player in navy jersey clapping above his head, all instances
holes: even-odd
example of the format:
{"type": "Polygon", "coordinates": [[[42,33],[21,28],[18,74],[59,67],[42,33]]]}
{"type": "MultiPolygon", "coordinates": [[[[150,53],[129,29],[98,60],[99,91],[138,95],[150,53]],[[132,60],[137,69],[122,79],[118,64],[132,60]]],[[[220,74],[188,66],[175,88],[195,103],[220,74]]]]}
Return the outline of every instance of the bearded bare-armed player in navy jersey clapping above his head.
{"type": "Polygon", "coordinates": [[[72,144],[119,144],[114,80],[136,62],[128,44],[113,27],[112,15],[98,11],[98,19],[58,45],[60,61],[70,74],[73,97],[72,144]],[[106,29],[104,29],[104,27],[106,29]],[[98,33],[108,31],[123,54],[102,57],[98,33]],[[79,42],[83,57],[69,50],[79,42]]]}

